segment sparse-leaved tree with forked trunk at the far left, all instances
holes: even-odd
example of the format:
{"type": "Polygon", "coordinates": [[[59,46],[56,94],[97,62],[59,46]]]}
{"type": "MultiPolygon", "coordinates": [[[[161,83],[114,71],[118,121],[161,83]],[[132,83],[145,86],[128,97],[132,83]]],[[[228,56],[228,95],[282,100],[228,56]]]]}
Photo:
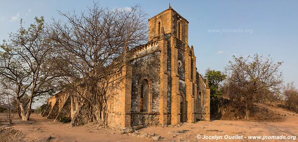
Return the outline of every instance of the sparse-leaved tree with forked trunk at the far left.
{"type": "Polygon", "coordinates": [[[20,24],[20,29],[1,45],[0,81],[13,92],[21,119],[27,121],[33,99],[53,93],[63,73],[52,62],[52,47],[44,36],[43,17],[35,17],[35,23],[27,29],[22,26],[22,20],[20,24]]]}

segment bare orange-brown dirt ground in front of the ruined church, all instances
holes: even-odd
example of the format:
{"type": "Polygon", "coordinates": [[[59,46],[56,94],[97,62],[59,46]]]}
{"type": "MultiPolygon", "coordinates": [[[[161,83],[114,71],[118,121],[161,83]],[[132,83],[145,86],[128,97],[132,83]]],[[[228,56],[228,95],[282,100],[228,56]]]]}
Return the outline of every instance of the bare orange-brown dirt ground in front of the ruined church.
{"type": "MultiPolygon", "coordinates": [[[[121,134],[119,131],[98,128],[96,125],[68,127],[69,124],[54,123],[53,120],[33,114],[31,120],[22,122],[13,115],[12,125],[0,121],[0,142],[148,142],[159,139],[166,142],[260,142],[249,140],[248,136],[292,136],[291,140],[298,141],[298,114],[281,108],[269,107],[285,116],[283,122],[250,122],[213,120],[197,123],[185,123],[180,127],[148,127],[134,133],[121,134]],[[5,133],[6,132],[6,133],[5,133]],[[8,133],[11,133],[7,135],[8,133]],[[198,139],[197,137],[199,137],[198,139]],[[203,138],[213,138],[206,140],[203,138]],[[219,137],[222,136],[220,139],[219,137]],[[225,136],[238,136],[238,140],[227,140],[225,136]],[[242,136],[242,139],[241,139],[242,136]],[[294,137],[295,136],[295,137],[294,137]],[[7,138],[9,137],[9,138],[7,138]],[[18,138],[16,138],[18,137],[18,138]],[[7,138],[7,139],[6,139],[7,138]],[[218,138],[218,140],[216,140],[218,138]],[[295,138],[295,139],[294,139],[295,138]]],[[[6,118],[0,114],[0,120],[6,118]]],[[[280,137],[281,138],[281,137],[280,137]]],[[[279,142],[280,140],[265,140],[264,142],[279,142]]]]}

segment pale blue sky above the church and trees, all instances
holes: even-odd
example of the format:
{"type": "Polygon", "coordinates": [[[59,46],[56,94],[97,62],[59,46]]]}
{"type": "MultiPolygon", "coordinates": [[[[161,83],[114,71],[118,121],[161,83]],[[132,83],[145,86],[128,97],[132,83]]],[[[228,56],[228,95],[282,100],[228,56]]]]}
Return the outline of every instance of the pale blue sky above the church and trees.
{"type": "MultiPolygon", "coordinates": [[[[142,5],[148,18],[169,7],[169,1],[189,21],[189,45],[194,46],[197,68],[223,71],[236,57],[258,53],[281,67],[284,82],[298,88],[298,0],[95,0],[102,7],[142,5]]],[[[59,19],[58,11],[84,11],[93,0],[0,0],[0,44],[8,33],[35,16],[59,19]]]]}

